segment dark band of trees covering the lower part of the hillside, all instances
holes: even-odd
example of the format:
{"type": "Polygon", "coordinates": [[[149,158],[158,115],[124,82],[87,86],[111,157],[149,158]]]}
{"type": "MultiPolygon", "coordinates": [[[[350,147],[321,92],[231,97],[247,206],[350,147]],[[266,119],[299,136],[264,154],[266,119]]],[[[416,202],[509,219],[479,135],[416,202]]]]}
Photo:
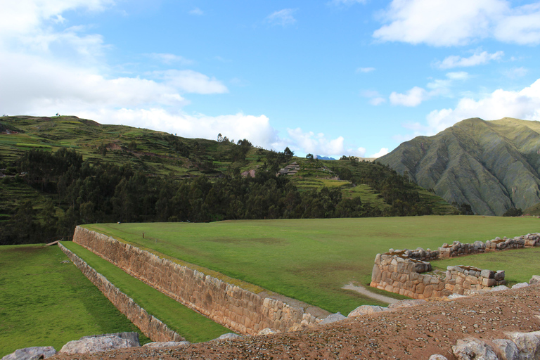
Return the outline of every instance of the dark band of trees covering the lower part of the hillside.
{"type": "MultiPolygon", "coordinates": [[[[249,141],[238,141],[238,156],[249,141]],[[246,143],[247,142],[247,143],[246,143]]],[[[250,145],[250,144],[249,144],[250,145]]],[[[180,147],[180,146],[179,146],[180,147]]],[[[75,150],[27,151],[18,161],[24,176],[2,181],[26,182],[46,195],[39,210],[21,203],[0,230],[0,245],[69,239],[77,224],[96,222],[218,221],[224,219],[299,219],[430,214],[413,184],[383,166],[361,172],[335,169],[342,179],[368,184],[390,205],[384,212],[360,198],[342,198],[340,188],[299,191],[276,169],[292,151],[270,152],[255,178],[239,174],[208,179],[148,175],[130,165],[91,164],[75,150]],[[388,172],[391,175],[388,175],[388,172]]]]}

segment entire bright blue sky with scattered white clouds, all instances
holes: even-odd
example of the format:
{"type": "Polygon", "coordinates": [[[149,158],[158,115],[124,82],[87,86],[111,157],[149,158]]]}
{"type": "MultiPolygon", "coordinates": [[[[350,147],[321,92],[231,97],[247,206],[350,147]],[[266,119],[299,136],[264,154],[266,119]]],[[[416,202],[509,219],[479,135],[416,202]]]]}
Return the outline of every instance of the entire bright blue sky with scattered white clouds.
{"type": "Polygon", "coordinates": [[[0,113],[297,155],[540,120],[540,1],[1,1],[0,113]]]}

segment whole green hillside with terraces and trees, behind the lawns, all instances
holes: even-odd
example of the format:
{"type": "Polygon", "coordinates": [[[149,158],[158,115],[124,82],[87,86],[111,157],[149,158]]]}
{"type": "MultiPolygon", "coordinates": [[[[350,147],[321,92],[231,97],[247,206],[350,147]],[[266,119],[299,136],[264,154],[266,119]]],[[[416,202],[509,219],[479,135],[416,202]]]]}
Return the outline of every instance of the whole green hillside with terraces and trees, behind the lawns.
{"type": "Polygon", "coordinates": [[[0,117],[0,125],[0,245],[70,238],[75,225],[96,222],[457,212],[356,158],[300,159],[221,134],[184,139],[77,117],[0,117]],[[276,176],[291,162],[298,171],[276,176]]]}

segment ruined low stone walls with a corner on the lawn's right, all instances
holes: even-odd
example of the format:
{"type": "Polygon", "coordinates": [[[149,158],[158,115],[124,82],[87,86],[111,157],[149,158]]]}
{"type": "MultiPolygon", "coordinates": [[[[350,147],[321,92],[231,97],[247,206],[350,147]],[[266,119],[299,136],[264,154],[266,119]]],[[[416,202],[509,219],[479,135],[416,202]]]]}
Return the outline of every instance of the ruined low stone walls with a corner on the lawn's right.
{"type": "Polygon", "coordinates": [[[371,286],[413,297],[447,296],[452,293],[463,295],[468,290],[486,290],[496,285],[503,285],[504,271],[475,269],[471,266],[448,266],[445,278],[437,275],[421,274],[431,271],[428,261],[458,257],[499,250],[532,248],[540,246],[540,233],[532,233],[515,238],[495,238],[485,243],[443,244],[438,250],[394,250],[378,254],[371,273],[371,286]]]}

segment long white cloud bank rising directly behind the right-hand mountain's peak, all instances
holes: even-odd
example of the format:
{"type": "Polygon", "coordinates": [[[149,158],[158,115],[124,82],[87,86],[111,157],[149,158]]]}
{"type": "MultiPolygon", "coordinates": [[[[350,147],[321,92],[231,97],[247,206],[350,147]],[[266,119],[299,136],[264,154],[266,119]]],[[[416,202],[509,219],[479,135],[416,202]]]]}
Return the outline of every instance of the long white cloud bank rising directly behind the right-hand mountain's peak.
{"type": "Polygon", "coordinates": [[[540,79],[521,91],[498,89],[480,100],[461,98],[454,109],[433,110],[427,116],[427,126],[417,124],[416,130],[432,135],[470,117],[484,120],[516,117],[540,121],[540,79]]]}

